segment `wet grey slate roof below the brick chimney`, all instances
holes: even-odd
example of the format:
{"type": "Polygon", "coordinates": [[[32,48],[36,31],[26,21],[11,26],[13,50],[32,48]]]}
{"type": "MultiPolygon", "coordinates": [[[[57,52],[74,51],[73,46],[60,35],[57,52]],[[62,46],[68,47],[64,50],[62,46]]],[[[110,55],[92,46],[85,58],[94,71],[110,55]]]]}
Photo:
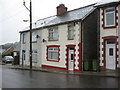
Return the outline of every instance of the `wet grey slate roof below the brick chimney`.
{"type": "MultiPolygon", "coordinates": [[[[74,9],[74,10],[71,10],[71,11],[67,11],[66,13],[64,13],[60,16],[55,15],[55,16],[44,18],[44,19],[39,19],[38,21],[33,23],[32,28],[36,29],[36,28],[42,28],[42,27],[62,24],[62,23],[71,22],[71,21],[82,20],[87,15],[89,15],[93,10],[95,10],[94,5],[95,4],[88,5],[88,6],[85,6],[85,7],[81,7],[81,8],[78,8],[78,9],[74,9]]],[[[28,30],[29,30],[29,27],[25,28],[21,32],[28,31],[28,30]]]]}

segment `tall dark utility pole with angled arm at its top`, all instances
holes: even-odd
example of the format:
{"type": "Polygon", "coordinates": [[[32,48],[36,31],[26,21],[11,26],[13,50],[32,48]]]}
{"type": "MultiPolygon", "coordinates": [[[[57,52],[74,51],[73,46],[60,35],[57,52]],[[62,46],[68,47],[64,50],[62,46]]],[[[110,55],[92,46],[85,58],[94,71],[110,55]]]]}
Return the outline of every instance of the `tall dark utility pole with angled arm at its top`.
{"type": "Polygon", "coordinates": [[[26,6],[25,1],[23,0],[23,5],[30,12],[30,70],[32,70],[32,0],[30,0],[30,9],[26,6]]]}

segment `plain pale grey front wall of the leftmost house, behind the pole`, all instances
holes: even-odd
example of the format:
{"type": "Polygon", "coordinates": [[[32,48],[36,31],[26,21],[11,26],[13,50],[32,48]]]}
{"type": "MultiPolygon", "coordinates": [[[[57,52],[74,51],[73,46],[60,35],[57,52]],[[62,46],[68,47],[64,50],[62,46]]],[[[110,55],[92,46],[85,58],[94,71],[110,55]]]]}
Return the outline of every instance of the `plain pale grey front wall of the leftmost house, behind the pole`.
{"type": "MultiPolygon", "coordinates": [[[[33,66],[35,67],[41,67],[41,37],[42,37],[42,31],[41,30],[36,30],[35,31],[37,33],[38,36],[40,36],[39,38],[37,38],[37,42],[36,43],[32,43],[32,48],[33,50],[37,50],[37,63],[33,62],[33,66]]],[[[22,65],[22,50],[25,50],[25,60],[23,62],[24,66],[29,66],[30,65],[30,61],[29,61],[29,48],[30,48],[30,33],[29,32],[23,32],[25,33],[25,44],[22,43],[22,39],[21,39],[21,49],[20,49],[20,64],[22,65]]],[[[22,34],[21,33],[21,38],[22,38],[22,34]]]]}

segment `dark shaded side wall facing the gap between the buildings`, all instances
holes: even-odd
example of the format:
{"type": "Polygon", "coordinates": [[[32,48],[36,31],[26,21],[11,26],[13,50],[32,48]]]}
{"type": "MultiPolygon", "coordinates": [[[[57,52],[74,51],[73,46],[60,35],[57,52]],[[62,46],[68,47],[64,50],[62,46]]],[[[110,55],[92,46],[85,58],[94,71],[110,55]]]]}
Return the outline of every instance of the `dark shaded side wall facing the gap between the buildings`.
{"type": "Polygon", "coordinates": [[[97,60],[97,10],[83,20],[83,60],[97,60]]]}

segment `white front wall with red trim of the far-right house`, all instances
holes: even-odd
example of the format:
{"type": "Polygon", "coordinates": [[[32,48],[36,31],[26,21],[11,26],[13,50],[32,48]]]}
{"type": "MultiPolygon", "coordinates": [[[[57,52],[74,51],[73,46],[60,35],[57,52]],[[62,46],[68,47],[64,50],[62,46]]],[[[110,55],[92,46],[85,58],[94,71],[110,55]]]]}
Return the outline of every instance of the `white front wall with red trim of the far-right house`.
{"type": "Polygon", "coordinates": [[[116,26],[112,28],[104,27],[104,8],[100,8],[100,67],[106,69],[105,61],[105,39],[116,39],[116,69],[120,68],[120,5],[116,7],[116,26]]]}

